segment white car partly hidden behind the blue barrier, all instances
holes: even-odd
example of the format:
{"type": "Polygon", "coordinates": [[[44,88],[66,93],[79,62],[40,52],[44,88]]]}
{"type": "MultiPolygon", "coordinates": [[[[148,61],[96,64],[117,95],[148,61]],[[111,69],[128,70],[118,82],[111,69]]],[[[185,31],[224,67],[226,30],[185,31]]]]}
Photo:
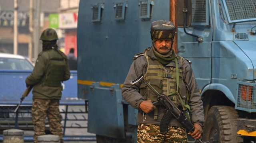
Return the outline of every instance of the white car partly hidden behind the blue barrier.
{"type": "Polygon", "coordinates": [[[0,70],[33,70],[34,65],[22,55],[0,53],[0,70]]]}

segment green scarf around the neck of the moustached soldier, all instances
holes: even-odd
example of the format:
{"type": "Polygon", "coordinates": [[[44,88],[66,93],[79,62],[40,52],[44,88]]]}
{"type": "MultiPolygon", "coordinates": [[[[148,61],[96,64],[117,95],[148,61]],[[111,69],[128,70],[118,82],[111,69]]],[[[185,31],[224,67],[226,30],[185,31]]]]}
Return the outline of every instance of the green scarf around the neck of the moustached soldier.
{"type": "Polygon", "coordinates": [[[157,51],[155,51],[154,47],[153,47],[153,53],[156,56],[156,58],[158,59],[158,61],[164,66],[166,66],[168,63],[170,63],[175,58],[174,50],[170,50],[169,53],[167,53],[170,55],[168,57],[166,57],[167,54],[162,55],[162,54],[158,53],[157,51]]]}

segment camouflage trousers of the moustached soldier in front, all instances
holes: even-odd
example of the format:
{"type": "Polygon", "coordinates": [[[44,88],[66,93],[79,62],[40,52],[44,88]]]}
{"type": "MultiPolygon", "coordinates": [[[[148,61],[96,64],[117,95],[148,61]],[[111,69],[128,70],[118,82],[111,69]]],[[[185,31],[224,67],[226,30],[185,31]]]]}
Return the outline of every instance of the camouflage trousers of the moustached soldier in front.
{"type": "Polygon", "coordinates": [[[186,129],[168,126],[168,132],[160,133],[160,125],[138,124],[137,143],[186,143],[186,129]]]}

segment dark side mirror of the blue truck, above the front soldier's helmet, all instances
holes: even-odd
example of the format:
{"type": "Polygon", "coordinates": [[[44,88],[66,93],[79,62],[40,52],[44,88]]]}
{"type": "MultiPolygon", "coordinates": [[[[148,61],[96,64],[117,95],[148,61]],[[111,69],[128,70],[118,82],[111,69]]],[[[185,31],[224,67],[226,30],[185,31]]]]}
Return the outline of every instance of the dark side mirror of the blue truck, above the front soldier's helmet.
{"type": "Polygon", "coordinates": [[[190,27],[192,21],[192,0],[177,0],[178,27],[190,27]],[[184,23],[186,20],[186,23],[184,23]]]}

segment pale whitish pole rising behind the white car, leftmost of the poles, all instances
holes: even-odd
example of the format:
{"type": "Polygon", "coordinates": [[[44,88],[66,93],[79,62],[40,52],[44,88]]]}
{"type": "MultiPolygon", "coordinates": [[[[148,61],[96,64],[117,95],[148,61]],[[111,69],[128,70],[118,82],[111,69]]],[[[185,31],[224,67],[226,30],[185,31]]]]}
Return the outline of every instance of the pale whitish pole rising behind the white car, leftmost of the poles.
{"type": "Polygon", "coordinates": [[[18,0],[14,0],[14,37],[13,37],[13,53],[18,54],[18,0]]]}

